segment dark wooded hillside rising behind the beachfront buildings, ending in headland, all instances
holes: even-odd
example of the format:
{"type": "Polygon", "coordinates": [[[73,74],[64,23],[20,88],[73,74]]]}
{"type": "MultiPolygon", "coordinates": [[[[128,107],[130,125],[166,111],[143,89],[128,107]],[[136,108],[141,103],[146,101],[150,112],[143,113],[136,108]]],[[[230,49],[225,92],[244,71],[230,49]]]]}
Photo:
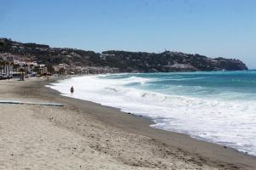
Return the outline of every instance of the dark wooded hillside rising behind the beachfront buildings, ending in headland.
{"type": "Polygon", "coordinates": [[[237,71],[247,70],[239,59],[211,59],[200,54],[166,51],[145,52],[104,51],[102,54],[75,48],[50,48],[37,43],[15,42],[0,38],[0,53],[20,55],[45,65],[109,66],[125,72],[168,71],[237,71]]]}

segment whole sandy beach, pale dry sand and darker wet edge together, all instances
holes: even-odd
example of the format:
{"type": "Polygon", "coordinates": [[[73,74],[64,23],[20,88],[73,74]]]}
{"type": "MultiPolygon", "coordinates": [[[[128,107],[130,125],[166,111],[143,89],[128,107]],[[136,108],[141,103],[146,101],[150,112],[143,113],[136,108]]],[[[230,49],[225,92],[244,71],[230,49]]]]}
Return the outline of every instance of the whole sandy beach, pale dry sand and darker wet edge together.
{"type": "Polygon", "coordinates": [[[256,169],[253,156],[45,87],[56,80],[0,81],[0,100],[64,105],[0,104],[0,169],[256,169]]]}

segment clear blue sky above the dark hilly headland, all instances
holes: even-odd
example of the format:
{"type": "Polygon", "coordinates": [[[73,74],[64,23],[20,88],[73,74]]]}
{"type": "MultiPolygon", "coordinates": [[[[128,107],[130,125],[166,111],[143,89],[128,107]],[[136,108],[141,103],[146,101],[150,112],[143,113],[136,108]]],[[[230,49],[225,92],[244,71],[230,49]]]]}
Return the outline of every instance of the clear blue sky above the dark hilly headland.
{"type": "Polygon", "coordinates": [[[0,37],[96,52],[236,58],[256,69],[256,1],[0,0],[0,37]]]}

